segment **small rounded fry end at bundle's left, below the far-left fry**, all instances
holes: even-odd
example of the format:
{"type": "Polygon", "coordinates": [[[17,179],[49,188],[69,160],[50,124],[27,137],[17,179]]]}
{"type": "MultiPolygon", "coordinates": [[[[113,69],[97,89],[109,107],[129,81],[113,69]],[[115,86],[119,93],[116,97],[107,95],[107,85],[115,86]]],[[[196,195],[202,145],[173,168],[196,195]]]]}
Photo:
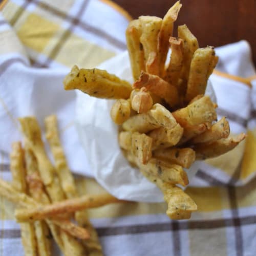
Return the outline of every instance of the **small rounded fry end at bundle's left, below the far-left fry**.
{"type": "Polygon", "coordinates": [[[122,124],[131,115],[131,104],[128,100],[118,99],[112,106],[110,116],[114,123],[122,124]]]}

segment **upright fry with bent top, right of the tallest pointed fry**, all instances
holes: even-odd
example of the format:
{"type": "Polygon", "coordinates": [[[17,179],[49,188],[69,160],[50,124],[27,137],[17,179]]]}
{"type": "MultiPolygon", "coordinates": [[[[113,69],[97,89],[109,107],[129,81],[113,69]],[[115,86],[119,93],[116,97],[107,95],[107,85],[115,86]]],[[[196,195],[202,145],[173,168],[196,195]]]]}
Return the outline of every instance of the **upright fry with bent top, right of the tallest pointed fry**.
{"type": "Polygon", "coordinates": [[[194,52],[199,48],[197,38],[186,25],[178,26],[178,36],[184,41],[183,68],[181,78],[188,80],[190,63],[194,52]]]}

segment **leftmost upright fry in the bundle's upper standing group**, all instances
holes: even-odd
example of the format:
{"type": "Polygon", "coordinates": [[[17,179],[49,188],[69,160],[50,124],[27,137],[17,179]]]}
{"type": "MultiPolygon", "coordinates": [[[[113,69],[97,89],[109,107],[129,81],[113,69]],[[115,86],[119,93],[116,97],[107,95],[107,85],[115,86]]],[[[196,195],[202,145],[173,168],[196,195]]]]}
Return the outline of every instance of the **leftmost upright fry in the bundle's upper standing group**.
{"type": "Polygon", "coordinates": [[[125,33],[133,78],[135,81],[139,78],[140,71],[145,70],[143,45],[140,42],[141,33],[142,28],[138,19],[130,22],[125,33]]]}

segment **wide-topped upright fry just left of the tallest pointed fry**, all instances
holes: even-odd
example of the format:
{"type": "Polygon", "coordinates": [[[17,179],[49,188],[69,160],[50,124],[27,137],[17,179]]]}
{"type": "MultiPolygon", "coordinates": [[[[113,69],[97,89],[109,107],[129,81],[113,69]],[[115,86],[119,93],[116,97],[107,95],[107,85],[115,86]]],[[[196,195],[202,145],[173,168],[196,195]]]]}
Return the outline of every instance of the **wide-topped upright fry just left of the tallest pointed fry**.
{"type": "Polygon", "coordinates": [[[157,45],[162,19],[154,16],[140,16],[139,21],[142,27],[140,42],[144,49],[146,71],[151,74],[159,75],[157,45]]]}

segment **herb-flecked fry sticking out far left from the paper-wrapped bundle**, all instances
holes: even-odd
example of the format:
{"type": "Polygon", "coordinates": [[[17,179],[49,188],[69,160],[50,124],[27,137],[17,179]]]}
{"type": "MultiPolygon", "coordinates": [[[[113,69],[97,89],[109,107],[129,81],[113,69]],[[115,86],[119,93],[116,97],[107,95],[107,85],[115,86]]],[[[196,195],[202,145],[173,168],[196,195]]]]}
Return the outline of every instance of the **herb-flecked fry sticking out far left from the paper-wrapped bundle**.
{"type": "Polygon", "coordinates": [[[65,90],[78,89],[96,98],[127,99],[131,84],[100,69],[79,69],[74,66],[63,80],[65,90]]]}

